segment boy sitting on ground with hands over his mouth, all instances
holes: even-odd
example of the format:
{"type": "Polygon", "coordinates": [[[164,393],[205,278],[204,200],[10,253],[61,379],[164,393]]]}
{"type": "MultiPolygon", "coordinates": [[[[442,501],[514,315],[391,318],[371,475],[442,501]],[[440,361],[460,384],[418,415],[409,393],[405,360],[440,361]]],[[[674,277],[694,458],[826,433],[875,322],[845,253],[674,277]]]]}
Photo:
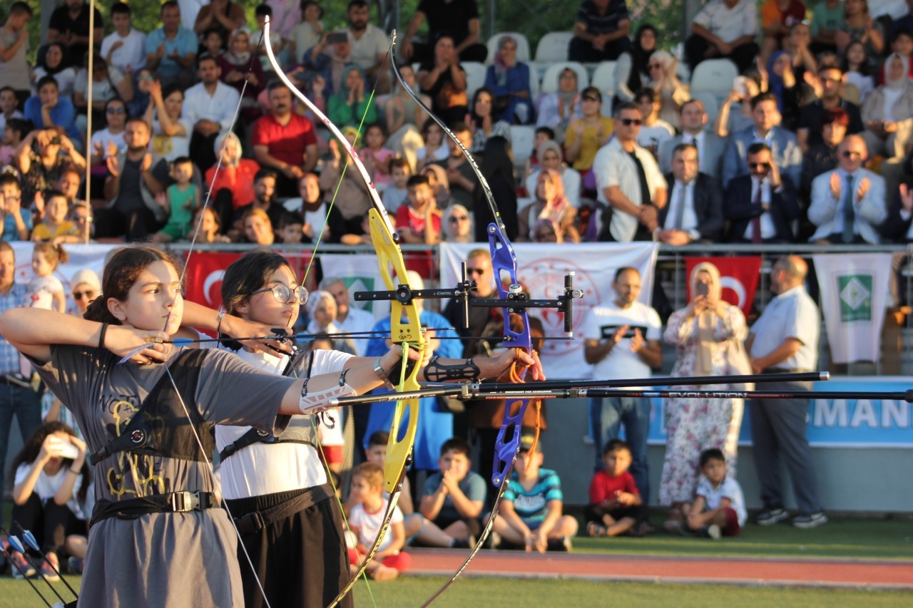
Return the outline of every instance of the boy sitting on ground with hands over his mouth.
{"type": "Polygon", "coordinates": [[[424,544],[464,549],[475,544],[482,529],[479,518],[488,488],[485,479],[470,471],[469,465],[469,445],[459,437],[447,439],[437,459],[440,472],[425,481],[425,492],[418,506],[426,519],[444,530],[446,544],[423,538],[424,544]]]}

